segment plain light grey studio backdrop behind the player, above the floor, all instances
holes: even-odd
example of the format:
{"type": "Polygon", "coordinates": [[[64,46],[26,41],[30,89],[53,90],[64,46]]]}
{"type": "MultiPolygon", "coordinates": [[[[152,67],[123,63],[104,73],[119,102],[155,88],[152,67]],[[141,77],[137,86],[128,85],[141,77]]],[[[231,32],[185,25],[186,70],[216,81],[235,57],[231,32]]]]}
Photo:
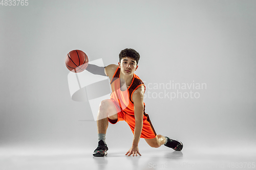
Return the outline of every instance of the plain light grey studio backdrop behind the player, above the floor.
{"type": "MultiPolygon", "coordinates": [[[[89,103],[71,99],[65,57],[78,49],[117,64],[124,48],[141,55],[135,74],[158,134],[187,147],[255,143],[255,1],[28,2],[0,6],[0,147],[93,151],[96,122],[89,103]],[[169,82],[206,88],[170,100],[177,89],[160,86],[169,82]]],[[[121,122],[106,138],[129,149],[133,135],[121,122]]]]}

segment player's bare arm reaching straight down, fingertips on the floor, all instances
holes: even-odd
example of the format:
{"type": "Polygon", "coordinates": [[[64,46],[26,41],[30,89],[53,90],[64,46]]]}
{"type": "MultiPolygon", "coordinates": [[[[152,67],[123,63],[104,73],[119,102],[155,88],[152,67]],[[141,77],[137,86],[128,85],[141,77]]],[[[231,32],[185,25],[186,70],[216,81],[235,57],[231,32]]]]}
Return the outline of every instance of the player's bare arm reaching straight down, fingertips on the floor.
{"type": "Polygon", "coordinates": [[[143,110],[144,110],[144,104],[143,104],[143,95],[144,95],[144,86],[138,87],[138,89],[135,90],[133,93],[132,99],[134,102],[134,116],[135,116],[135,129],[134,129],[134,138],[133,138],[133,144],[132,148],[126,153],[130,153],[128,156],[134,154],[137,156],[137,154],[141,155],[139,153],[138,144],[140,141],[140,135],[142,131],[143,126],[143,110]]]}

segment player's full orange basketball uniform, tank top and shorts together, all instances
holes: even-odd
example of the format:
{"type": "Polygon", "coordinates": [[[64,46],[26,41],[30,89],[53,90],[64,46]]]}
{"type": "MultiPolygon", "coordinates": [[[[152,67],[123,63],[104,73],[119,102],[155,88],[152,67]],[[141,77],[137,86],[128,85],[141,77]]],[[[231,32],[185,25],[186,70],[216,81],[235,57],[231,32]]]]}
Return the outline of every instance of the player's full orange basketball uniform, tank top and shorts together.
{"type": "MultiPolygon", "coordinates": [[[[118,121],[125,120],[125,122],[130,126],[132,132],[134,133],[135,128],[135,117],[134,117],[134,102],[132,96],[134,91],[139,86],[144,86],[142,80],[135,74],[133,74],[133,80],[131,85],[124,91],[120,88],[120,68],[117,68],[115,74],[111,80],[112,93],[110,96],[111,101],[114,103],[117,113],[118,120],[114,121],[109,119],[112,124],[118,121]]],[[[156,137],[156,132],[151,124],[149,116],[145,113],[145,103],[143,110],[143,127],[141,132],[141,138],[154,138],[156,137]]]]}

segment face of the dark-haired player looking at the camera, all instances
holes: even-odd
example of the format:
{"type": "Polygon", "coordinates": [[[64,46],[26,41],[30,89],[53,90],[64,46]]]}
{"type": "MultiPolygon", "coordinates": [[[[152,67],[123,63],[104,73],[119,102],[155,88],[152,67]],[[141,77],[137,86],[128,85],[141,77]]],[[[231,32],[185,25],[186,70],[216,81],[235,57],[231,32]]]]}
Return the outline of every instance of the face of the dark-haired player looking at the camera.
{"type": "Polygon", "coordinates": [[[137,70],[138,65],[133,58],[123,57],[121,62],[118,62],[118,66],[124,75],[133,75],[137,70]]]}

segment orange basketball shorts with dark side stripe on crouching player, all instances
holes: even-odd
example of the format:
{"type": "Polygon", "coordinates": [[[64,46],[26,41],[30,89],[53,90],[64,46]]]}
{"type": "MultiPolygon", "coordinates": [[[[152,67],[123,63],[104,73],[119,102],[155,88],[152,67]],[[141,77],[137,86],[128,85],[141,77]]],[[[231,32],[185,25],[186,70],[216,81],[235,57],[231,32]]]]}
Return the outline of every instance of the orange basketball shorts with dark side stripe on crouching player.
{"type": "MultiPolygon", "coordinates": [[[[134,128],[135,128],[135,117],[134,115],[127,114],[125,111],[121,110],[119,105],[111,99],[111,101],[114,103],[116,110],[117,110],[117,120],[112,120],[109,118],[109,122],[111,124],[116,124],[119,121],[125,121],[131,128],[133,134],[134,134],[134,128]]],[[[154,130],[153,125],[151,124],[150,117],[148,114],[144,112],[143,114],[143,127],[141,131],[141,138],[146,138],[146,139],[152,139],[156,137],[156,132],[154,130]]]]}

